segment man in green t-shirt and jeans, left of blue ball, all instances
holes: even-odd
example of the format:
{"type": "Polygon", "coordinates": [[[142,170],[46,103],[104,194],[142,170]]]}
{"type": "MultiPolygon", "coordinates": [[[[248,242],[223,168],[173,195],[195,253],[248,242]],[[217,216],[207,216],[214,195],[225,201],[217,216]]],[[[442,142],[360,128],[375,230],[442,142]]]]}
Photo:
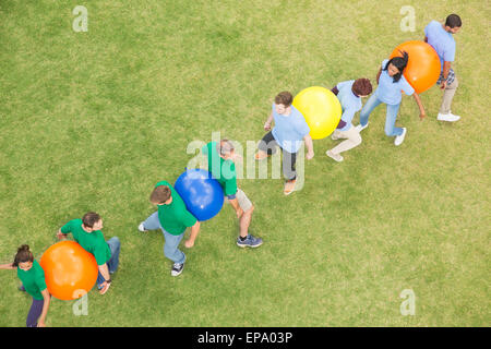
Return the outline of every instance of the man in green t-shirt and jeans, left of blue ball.
{"type": "Polygon", "coordinates": [[[158,182],[149,201],[157,205],[157,212],[142,221],[140,231],[157,230],[164,232],[164,255],[173,262],[170,275],[178,276],[184,268],[185,254],[179,250],[179,243],[187,228],[191,228],[190,238],[184,245],[190,249],[200,232],[200,221],[188,210],[178,192],[167,181],[158,182]]]}

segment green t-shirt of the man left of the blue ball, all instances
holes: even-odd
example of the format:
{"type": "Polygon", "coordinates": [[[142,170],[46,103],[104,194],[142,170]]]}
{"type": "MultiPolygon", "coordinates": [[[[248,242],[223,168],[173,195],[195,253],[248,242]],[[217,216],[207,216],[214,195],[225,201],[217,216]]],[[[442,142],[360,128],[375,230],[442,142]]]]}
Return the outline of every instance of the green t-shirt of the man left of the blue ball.
{"type": "Polygon", "coordinates": [[[172,202],[170,205],[158,205],[158,220],[160,226],[172,236],[180,236],[185,228],[192,227],[196,224],[196,218],[185,208],[178,192],[169,184],[169,182],[160,181],[155,188],[159,185],[167,185],[170,188],[170,195],[172,202]]]}

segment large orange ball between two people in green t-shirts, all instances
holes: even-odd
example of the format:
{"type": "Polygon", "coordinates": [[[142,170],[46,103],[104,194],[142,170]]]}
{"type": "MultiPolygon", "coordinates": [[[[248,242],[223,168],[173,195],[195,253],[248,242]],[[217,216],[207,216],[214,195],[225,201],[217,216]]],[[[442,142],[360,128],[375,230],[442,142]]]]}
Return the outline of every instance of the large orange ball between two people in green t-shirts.
{"type": "Polygon", "coordinates": [[[97,262],[75,241],[55,243],[43,254],[49,293],[61,300],[77,299],[88,292],[97,280],[97,262]]]}

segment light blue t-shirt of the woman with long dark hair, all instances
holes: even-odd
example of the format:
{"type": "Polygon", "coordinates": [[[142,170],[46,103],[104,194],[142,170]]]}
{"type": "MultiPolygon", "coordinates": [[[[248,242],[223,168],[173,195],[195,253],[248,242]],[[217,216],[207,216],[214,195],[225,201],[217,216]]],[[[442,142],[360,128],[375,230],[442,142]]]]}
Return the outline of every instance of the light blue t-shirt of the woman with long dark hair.
{"type": "Polygon", "coordinates": [[[388,75],[388,70],[384,70],[387,64],[388,59],[382,61],[382,73],[379,79],[379,87],[375,89],[375,96],[386,105],[396,106],[403,99],[402,91],[410,96],[415,93],[415,88],[406,81],[406,79],[400,76],[400,80],[394,83],[394,77],[388,75]]]}

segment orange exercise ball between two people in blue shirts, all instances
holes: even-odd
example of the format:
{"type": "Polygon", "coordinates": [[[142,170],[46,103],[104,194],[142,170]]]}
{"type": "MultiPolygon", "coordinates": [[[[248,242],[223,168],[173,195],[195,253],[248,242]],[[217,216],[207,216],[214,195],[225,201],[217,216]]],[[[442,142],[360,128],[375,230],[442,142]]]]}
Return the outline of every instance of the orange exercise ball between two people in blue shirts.
{"type": "Polygon", "coordinates": [[[440,77],[441,63],[434,48],[424,41],[407,41],[397,46],[390,58],[400,57],[400,51],[409,55],[404,77],[420,94],[433,86],[440,77]]]}

